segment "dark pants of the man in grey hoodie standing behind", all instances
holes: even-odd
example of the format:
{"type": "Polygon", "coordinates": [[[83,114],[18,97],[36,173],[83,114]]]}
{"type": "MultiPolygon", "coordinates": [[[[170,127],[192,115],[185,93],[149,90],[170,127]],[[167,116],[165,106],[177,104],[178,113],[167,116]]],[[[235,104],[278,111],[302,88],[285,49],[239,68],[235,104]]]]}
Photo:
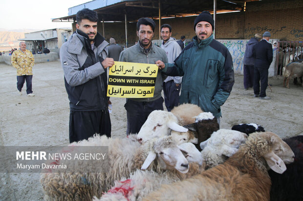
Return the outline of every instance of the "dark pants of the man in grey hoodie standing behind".
{"type": "Polygon", "coordinates": [[[179,105],[180,89],[181,84],[176,87],[173,80],[163,82],[164,101],[167,111],[171,111],[175,106],[179,105]]]}

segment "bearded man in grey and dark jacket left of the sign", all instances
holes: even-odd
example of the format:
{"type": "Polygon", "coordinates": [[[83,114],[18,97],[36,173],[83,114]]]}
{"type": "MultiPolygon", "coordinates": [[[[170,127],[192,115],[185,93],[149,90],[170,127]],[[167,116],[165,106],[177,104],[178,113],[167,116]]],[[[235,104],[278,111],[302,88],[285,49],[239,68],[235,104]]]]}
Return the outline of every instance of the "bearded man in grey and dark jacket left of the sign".
{"type": "Polygon", "coordinates": [[[77,30],[60,49],[70,107],[70,143],[95,133],[110,137],[111,132],[106,68],[114,60],[107,58],[108,42],[97,32],[97,13],[85,8],[76,19],[77,30]]]}

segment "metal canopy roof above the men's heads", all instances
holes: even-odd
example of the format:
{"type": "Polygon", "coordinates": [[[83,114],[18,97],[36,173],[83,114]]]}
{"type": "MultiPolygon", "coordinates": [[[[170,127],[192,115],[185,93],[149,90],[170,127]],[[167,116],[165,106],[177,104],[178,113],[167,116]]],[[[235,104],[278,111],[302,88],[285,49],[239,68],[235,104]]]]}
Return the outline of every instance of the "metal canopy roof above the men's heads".
{"type": "MultiPolygon", "coordinates": [[[[255,0],[216,0],[216,12],[241,11],[244,2],[255,0]]],[[[68,16],[55,18],[52,21],[76,21],[76,13],[89,8],[98,13],[99,20],[136,21],[142,17],[159,18],[184,17],[197,15],[204,10],[214,10],[214,0],[92,0],[68,9],[68,16]]]]}

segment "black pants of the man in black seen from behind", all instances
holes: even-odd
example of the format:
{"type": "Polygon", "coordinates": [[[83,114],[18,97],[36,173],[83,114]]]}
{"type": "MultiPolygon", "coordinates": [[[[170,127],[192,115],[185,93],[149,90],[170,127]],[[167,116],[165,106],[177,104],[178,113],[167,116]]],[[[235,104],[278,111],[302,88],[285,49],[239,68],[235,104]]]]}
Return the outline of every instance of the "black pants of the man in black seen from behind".
{"type": "Polygon", "coordinates": [[[268,68],[256,67],[254,68],[254,93],[260,94],[260,97],[266,96],[266,88],[268,85],[268,68]],[[261,89],[260,89],[261,83],[261,89]]]}

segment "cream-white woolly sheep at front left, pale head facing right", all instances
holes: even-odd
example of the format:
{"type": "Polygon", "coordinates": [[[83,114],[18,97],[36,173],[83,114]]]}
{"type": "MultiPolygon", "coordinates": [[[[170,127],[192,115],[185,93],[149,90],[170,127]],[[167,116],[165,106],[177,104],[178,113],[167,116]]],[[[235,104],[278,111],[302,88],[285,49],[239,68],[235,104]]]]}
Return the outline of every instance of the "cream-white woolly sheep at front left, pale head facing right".
{"type": "MultiPolygon", "coordinates": [[[[90,171],[81,166],[69,173],[46,173],[40,182],[44,190],[44,199],[51,200],[91,200],[100,197],[114,181],[129,177],[136,169],[149,169],[161,172],[177,169],[182,173],[188,171],[188,161],[177,147],[172,136],[151,139],[140,146],[129,138],[107,138],[94,135],[88,140],[72,143],[70,146],[108,146],[109,166],[103,161],[93,161],[89,167],[99,171],[90,171]],[[106,170],[106,172],[105,172],[106,170]],[[87,172],[87,173],[86,173],[87,172]]],[[[58,163],[58,162],[57,162],[58,163]]],[[[68,163],[65,160],[59,163],[68,163]]]]}

